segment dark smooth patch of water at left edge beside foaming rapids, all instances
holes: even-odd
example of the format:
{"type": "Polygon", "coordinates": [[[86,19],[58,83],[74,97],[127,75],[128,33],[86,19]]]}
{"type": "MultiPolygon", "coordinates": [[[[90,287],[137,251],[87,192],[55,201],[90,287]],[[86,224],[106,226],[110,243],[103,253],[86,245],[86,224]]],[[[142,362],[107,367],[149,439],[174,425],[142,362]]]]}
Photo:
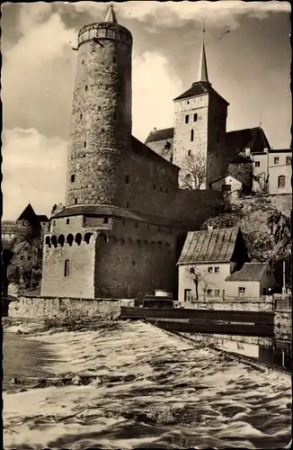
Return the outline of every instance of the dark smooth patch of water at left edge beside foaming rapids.
{"type": "Polygon", "coordinates": [[[20,389],[19,385],[11,383],[14,377],[37,378],[49,375],[42,368],[43,365],[49,365],[49,347],[42,342],[4,330],[3,349],[4,391],[20,389]]]}

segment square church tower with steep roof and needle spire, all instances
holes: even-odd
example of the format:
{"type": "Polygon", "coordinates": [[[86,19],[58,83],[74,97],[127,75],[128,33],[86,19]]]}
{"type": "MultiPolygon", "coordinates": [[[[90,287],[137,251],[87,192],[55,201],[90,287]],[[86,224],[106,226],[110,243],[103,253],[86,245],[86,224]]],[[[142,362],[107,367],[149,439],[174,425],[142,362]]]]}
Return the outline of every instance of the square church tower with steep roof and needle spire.
{"type": "Polygon", "coordinates": [[[204,34],[197,81],[173,102],[173,164],[181,168],[179,185],[181,188],[199,188],[197,184],[200,184],[201,188],[209,188],[212,181],[225,175],[229,103],[209,82],[204,34]],[[196,178],[199,178],[197,183],[196,178]]]}

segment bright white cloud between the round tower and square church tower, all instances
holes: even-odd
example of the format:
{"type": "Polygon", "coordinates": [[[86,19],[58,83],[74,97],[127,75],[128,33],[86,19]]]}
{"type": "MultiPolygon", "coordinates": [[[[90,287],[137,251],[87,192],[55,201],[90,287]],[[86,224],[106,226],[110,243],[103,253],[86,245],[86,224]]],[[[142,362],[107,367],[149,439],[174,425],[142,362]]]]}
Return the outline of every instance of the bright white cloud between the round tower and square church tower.
{"type": "Polygon", "coordinates": [[[141,140],[156,128],[173,126],[173,98],[182,82],[170,74],[167,58],[155,52],[133,58],[133,134],[141,140]]]}

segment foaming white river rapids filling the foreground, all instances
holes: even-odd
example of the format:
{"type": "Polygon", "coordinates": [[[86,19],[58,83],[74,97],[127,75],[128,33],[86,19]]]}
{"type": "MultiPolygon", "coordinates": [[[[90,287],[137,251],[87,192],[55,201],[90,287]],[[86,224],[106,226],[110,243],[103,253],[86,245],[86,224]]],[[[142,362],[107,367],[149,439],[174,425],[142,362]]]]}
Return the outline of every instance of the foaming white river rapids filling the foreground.
{"type": "MultiPolygon", "coordinates": [[[[231,360],[145,323],[30,332],[57,359],[47,380],[4,393],[5,449],[286,446],[287,374],[231,360]]],[[[46,367],[44,368],[46,369],[46,367]]]]}

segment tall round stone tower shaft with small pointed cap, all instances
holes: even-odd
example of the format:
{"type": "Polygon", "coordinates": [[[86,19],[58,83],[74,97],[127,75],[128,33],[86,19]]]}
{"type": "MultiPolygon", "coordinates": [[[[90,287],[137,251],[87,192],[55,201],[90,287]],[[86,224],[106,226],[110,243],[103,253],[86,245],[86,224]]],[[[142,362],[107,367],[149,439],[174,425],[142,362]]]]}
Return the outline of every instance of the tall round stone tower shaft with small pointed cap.
{"type": "Polygon", "coordinates": [[[132,35],[110,7],[78,34],[66,205],[115,204],[131,139],[132,35]]]}

